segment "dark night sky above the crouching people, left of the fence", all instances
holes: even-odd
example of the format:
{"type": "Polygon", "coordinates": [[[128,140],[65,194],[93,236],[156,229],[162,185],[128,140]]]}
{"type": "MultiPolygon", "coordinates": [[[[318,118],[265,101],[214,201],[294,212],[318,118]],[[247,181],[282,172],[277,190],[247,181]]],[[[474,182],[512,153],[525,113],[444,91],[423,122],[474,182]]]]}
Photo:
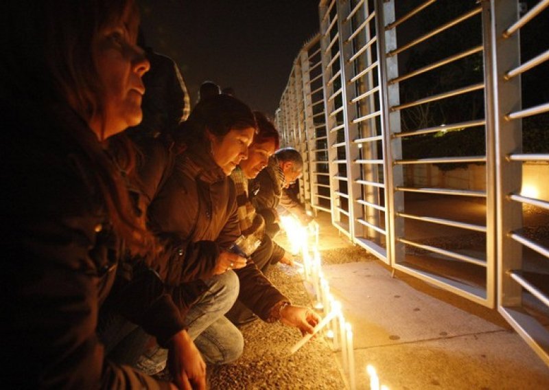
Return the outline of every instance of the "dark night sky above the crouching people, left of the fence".
{"type": "Polygon", "coordinates": [[[139,0],[148,46],[179,65],[194,105],[204,80],[274,115],[318,0],[139,0]]]}

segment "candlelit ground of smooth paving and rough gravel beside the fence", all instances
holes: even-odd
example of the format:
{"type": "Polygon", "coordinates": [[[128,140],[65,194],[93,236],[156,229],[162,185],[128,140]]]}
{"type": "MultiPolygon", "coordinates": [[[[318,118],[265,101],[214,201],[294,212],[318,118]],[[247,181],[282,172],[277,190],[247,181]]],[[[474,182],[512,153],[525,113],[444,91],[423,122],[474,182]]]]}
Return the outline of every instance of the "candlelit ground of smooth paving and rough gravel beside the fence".
{"type": "MultiPolygon", "coordinates": [[[[357,389],[373,365],[389,389],[549,389],[549,367],[496,310],[391,269],[351,246],[320,214],[323,271],[353,324],[357,389]]],[[[284,244],[284,239],[279,239],[284,244]]],[[[298,273],[275,266],[270,279],[292,301],[310,304],[298,273]]],[[[345,389],[340,352],[324,339],[296,354],[299,334],[256,321],[242,329],[244,356],[213,370],[212,389],[345,389]]]]}

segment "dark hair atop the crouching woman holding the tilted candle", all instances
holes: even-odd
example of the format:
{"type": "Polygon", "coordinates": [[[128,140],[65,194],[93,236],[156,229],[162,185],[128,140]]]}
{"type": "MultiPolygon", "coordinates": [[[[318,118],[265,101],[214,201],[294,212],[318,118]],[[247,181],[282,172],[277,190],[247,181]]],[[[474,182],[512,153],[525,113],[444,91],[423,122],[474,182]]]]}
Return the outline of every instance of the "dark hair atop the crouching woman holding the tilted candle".
{"type": "Polygon", "coordinates": [[[191,145],[197,141],[209,144],[206,129],[215,137],[224,137],[232,129],[252,127],[257,123],[250,109],[237,98],[229,95],[215,95],[196,104],[189,119],[174,131],[176,144],[191,145]]]}

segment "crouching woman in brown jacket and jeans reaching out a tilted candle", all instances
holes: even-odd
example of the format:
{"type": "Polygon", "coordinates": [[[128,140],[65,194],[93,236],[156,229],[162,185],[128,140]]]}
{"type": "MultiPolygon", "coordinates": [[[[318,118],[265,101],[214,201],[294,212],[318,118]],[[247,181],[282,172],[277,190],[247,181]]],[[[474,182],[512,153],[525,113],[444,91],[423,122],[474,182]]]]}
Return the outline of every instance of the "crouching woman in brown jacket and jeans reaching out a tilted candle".
{"type": "Polygon", "coordinates": [[[152,231],[173,253],[159,273],[188,310],[189,334],[214,364],[242,354],[242,334],[224,317],[237,297],[264,321],[280,320],[303,334],[318,322],[312,310],[291,305],[252,260],[231,252],[241,231],[228,176],[247,157],[256,126],[250,108],[229,95],[197,104],[178,133],[187,149],[148,207],[152,231]]]}

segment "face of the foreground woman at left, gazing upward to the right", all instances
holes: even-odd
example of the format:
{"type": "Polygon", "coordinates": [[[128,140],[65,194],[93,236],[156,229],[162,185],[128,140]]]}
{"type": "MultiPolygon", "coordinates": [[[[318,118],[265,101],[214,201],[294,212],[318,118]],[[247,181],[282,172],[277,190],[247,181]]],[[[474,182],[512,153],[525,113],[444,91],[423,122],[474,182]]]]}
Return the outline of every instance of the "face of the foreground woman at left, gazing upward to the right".
{"type": "Polygon", "coordinates": [[[90,126],[100,140],[139,124],[143,117],[141,99],[145,86],[141,77],[150,63],[135,43],[137,32],[128,30],[130,25],[130,21],[121,21],[107,27],[93,48],[104,90],[104,119],[95,115],[90,126]]]}

